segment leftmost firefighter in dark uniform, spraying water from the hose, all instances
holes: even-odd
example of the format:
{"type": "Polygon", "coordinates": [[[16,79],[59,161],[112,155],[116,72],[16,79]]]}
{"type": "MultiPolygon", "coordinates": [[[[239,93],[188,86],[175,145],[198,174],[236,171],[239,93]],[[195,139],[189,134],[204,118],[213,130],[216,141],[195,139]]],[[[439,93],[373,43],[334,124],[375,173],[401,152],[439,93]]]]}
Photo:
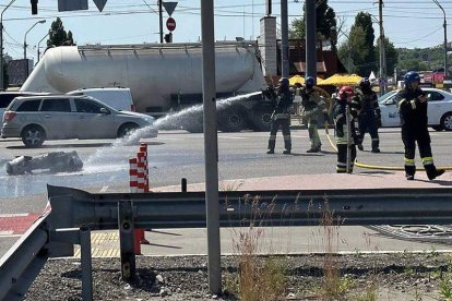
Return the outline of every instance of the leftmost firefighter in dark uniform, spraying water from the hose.
{"type": "Polygon", "coordinates": [[[290,139],[290,107],[294,103],[293,94],[289,91],[289,82],[287,77],[281,77],[279,86],[275,97],[275,108],[272,115],[272,124],[270,128],[269,149],[266,154],[275,153],[276,133],[282,128],[284,137],[284,152],[288,155],[292,152],[292,139],[290,139]]]}

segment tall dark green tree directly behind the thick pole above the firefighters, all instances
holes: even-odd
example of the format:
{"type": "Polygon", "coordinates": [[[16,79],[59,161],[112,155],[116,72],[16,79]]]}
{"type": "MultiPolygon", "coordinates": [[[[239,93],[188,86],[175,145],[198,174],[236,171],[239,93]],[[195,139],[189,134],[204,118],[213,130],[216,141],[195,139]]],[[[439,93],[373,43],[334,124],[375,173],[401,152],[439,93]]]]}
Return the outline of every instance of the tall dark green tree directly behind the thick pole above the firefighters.
{"type": "MultiPolygon", "coordinates": [[[[305,7],[302,9],[305,12],[305,7]]],[[[305,39],[306,17],[295,19],[289,28],[289,38],[305,39]]],[[[336,49],[337,44],[337,21],[336,13],[329,7],[328,0],[316,0],[316,26],[317,37],[321,39],[330,39],[332,49],[336,49]]]]}

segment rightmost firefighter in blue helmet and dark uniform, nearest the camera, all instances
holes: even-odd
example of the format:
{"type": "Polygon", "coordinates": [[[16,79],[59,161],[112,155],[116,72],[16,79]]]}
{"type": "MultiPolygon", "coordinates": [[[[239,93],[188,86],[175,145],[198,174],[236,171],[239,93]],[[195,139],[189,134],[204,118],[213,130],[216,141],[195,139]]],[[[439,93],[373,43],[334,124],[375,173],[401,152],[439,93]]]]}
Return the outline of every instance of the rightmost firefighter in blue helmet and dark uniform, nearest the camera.
{"type": "Polygon", "coordinates": [[[405,87],[396,95],[396,101],[402,123],[402,141],[405,146],[405,177],[414,180],[416,172],[416,142],[419,155],[429,180],[444,173],[437,169],[431,155],[430,134],[428,133],[427,94],[419,87],[420,77],[409,71],[404,76],[405,87]]]}

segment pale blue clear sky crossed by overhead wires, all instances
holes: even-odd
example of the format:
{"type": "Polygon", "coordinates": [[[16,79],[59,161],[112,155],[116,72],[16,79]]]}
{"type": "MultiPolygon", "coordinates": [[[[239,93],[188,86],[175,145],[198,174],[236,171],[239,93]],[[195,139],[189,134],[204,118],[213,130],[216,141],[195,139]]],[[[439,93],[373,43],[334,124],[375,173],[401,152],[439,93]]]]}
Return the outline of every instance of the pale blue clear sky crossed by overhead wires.
{"type": "MultiPolygon", "coordinates": [[[[0,0],[3,11],[11,0],[0,0]]],[[[445,10],[448,40],[452,37],[452,0],[438,0],[445,10]]],[[[165,2],[165,1],[164,1],[165,2]]],[[[177,27],[175,43],[198,41],[201,36],[201,0],[177,1],[173,17],[177,27]]],[[[281,2],[273,0],[273,15],[279,17],[281,2]]],[[[347,32],[355,15],[369,12],[378,17],[377,0],[329,0],[337,16],[344,21],[347,32]]],[[[432,0],[384,0],[383,25],[386,37],[395,47],[431,47],[443,43],[443,14],[432,0]]],[[[236,37],[255,38],[259,35],[259,20],[265,12],[265,0],[215,0],[215,37],[218,40],[234,40],[236,37]]],[[[300,17],[302,0],[288,0],[289,24],[300,17]]],[[[58,1],[39,0],[38,14],[32,15],[29,0],[15,0],[3,13],[4,52],[14,59],[23,58],[25,33],[39,20],[26,35],[27,57],[37,56],[37,45],[45,37],[52,21],[59,16],[66,31],[73,33],[78,45],[85,44],[140,44],[156,43],[158,36],[158,12],[156,0],[108,0],[99,12],[88,0],[86,11],[58,12],[58,1]]],[[[164,32],[168,14],[164,12],[164,32]]],[[[279,26],[281,20],[277,20],[279,26]]],[[[374,24],[376,36],[379,36],[374,24]]],[[[44,39],[39,45],[45,47],[44,39]]],[[[44,48],[41,49],[44,50],[44,48]]]]}

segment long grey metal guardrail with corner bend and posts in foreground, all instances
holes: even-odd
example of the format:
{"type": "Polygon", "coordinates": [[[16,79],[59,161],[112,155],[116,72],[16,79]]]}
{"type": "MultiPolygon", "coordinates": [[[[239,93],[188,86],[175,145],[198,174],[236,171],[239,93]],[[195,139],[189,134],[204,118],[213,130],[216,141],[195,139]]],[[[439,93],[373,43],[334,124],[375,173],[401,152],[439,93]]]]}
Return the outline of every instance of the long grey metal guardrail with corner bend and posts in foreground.
{"type": "MultiPolygon", "coordinates": [[[[91,267],[91,230],[119,229],[122,275],[133,276],[134,227],[205,227],[204,192],[88,193],[49,185],[48,197],[51,213],[0,260],[0,300],[20,300],[47,258],[72,255],[73,244],[82,244],[82,265],[91,267]]],[[[222,227],[313,226],[325,213],[342,226],[452,224],[448,188],[228,191],[218,200],[222,227]]],[[[83,279],[82,296],[91,300],[91,272],[83,279]]]]}

